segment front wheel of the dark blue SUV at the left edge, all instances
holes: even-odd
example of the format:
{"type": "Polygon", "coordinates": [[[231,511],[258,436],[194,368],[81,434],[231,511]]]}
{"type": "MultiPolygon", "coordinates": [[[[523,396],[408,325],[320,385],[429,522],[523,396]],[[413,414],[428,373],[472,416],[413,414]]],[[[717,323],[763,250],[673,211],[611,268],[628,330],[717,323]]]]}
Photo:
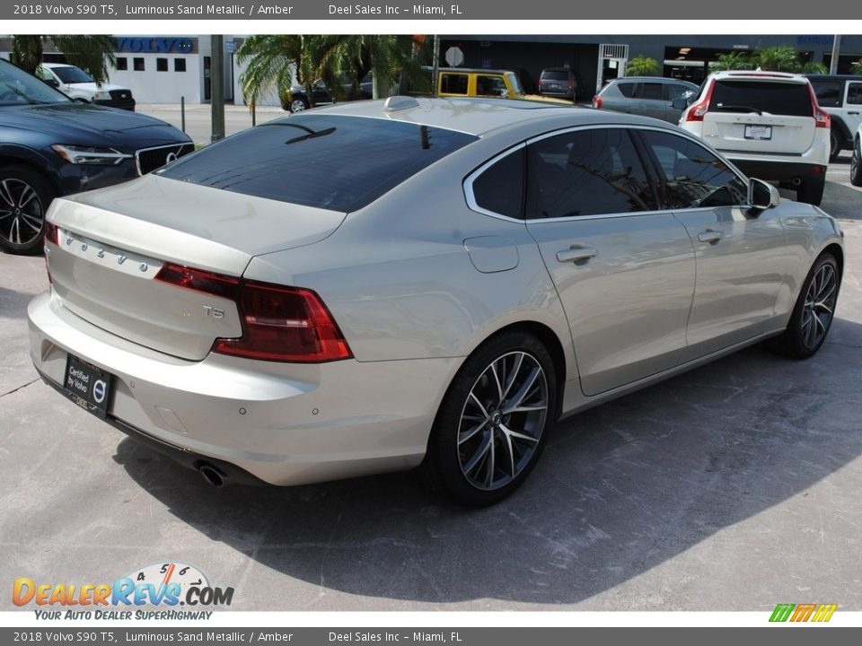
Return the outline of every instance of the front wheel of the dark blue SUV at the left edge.
{"type": "Polygon", "coordinates": [[[45,214],[56,191],[27,166],[0,168],[0,248],[12,254],[42,249],[45,214]]]}

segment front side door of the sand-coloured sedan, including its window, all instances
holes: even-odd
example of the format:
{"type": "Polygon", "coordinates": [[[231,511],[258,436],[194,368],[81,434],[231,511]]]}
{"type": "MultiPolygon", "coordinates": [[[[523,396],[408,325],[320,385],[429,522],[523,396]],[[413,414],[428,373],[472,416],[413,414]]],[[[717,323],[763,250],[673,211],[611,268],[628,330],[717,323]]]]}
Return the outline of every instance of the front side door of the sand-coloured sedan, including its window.
{"type": "Polygon", "coordinates": [[[689,137],[638,133],[658,168],[659,195],[685,226],[697,284],[682,361],[769,329],[787,275],[785,233],[775,209],[747,208],[747,181],[689,137]]]}

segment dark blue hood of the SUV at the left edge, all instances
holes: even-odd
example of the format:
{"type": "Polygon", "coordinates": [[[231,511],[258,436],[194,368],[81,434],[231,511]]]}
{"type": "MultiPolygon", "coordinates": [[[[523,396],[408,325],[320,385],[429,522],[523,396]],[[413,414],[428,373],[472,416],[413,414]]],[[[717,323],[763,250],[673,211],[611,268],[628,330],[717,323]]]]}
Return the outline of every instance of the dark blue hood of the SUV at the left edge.
{"type": "Polygon", "coordinates": [[[57,144],[116,144],[190,141],[180,130],[139,112],[86,103],[51,103],[0,109],[0,125],[53,135],[57,144]]]}

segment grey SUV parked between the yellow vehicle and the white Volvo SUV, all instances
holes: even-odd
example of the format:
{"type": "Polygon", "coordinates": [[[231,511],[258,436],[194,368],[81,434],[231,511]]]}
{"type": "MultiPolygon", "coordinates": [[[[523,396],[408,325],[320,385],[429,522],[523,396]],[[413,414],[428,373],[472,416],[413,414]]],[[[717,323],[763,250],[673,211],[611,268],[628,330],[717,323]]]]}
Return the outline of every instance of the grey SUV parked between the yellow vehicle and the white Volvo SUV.
{"type": "Polygon", "coordinates": [[[697,92],[697,85],[680,79],[626,76],[605,85],[602,92],[594,96],[593,107],[660,118],[675,124],[680,120],[682,109],[674,108],[673,100],[697,92]]]}

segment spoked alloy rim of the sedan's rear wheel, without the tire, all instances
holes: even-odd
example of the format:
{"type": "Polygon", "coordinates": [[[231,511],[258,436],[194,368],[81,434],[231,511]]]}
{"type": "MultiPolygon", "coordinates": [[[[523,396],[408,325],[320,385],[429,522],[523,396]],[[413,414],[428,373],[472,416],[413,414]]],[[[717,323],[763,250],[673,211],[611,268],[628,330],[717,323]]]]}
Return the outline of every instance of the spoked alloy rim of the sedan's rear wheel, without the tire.
{"type": "Polygon", "coordinates": [[[458,458],[475,488],[511,483],[539,447],[548,415],[548,381],[532,354],[504,354],[481,372],[462,408],[458,458]]]}

